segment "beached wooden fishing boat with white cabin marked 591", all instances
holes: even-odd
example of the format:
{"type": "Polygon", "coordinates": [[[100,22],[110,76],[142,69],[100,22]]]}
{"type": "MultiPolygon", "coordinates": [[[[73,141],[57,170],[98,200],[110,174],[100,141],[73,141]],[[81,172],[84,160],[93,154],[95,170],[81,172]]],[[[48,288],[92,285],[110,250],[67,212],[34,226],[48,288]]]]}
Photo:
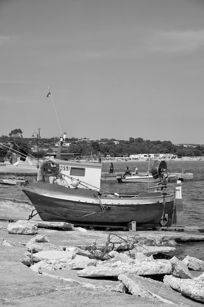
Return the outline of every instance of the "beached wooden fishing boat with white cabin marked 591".
{"type": "MultiPolygon", "coordinates": [[[[157,174],[154,176],[161,179],[166,164],[164,161],[157,162],[157,174]]],[[[132,221],[140,227],[172,224],[174,192],[164,189],[144,193],[109,193],[100,188],[101,164],[96,165],[47,159],[40,165],[37,181],[23,184],[22,190],[43,221],[64,221],[74,226],[94,228],[127,228],[132,221]],[[66,169],[61,168],[60,163],[66,163],[66,169]],[[88,174],[87,182],[79,178],[82,173],[77,168],[82,165],[83,174],[88,174]],[[71,168],[76,172],[73,176],[71,168]],[[96,184],[93,185],[92,181],[96,184]]],[[[160,187],[162,189],[166,185],[160,187]]],[[[32,212],[29,218],[33,216],[32,212]]]]}

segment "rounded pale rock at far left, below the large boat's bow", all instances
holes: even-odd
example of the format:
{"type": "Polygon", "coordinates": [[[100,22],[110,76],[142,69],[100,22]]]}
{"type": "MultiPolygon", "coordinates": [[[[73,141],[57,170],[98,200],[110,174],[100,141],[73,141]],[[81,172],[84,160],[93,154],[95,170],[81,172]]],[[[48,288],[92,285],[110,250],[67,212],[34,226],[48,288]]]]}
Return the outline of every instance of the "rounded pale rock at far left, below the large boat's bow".
{"type": "Polygon", "coordinates": [[[8,224],[8,233],[12,234],[36,234],[38,228],[29,221],[17,221],[16,223],[8,224]],[[26,222],[26,223],[24,223],[26,222]]]}

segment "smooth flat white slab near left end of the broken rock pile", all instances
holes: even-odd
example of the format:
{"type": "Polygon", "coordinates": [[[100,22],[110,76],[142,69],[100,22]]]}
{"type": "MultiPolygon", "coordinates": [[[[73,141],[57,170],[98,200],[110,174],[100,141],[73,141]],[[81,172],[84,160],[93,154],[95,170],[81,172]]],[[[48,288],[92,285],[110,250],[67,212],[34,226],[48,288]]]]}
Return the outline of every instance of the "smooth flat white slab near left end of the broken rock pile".
{"type": "Polygon", "coordinates": [[[33,254],[33,261],[39,262],[41,260],[60,260],[60,259],[73,259],[75,256],[72,252],[66,251],[42,251],[33,254]]]}

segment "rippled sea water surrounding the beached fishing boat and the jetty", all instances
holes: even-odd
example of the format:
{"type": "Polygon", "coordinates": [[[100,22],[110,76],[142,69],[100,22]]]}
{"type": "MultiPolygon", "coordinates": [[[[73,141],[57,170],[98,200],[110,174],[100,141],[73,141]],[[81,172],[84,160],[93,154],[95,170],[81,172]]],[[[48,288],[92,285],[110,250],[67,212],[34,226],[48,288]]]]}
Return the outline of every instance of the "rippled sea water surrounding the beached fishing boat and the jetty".
{"type": "MultiPolygon", "coordinates": [[[[103,163],[102,172],[109,171],[110,162],[103,163]]],[[[150,161],[150,169],[153,162],[150,161]]],[[[113,161],[114,171],[124,174],[126,166],[134,172],[134,166],[138,168],[138,174],[147,172],[148,161],[113,161]]],[[[167,168],[172,173],[193,173],[194,180],[182,181],[183,220],[185,226],[196,226],[204,229],[204,160],[174,160],[167,161],[167,168]]],[[[151,183],[150,186],[152,186],[151,183]]],[[[171,185],[171,182],[169,183],[171,185]]],[[[147,182],[118,183],[115,181],[101,182],[101,188],[111,193],[144,192],[148,188],[147,182]]],[[[171,187],[170,187],[171,189],[171,187]]],[[[172,186],[172,190],[174,187],[172,186]]],[[[0,198],[27,201],[24,193],[18,186],[0,187],[0,198]]],[[[202,233],[201,233],[202,234],[202,233]]],[[[204,233],[203,233],[204,234],[204,233]]],[[[196,256],[204,260],[204,242],[193,242],[177,245],[177,256],[196,256]]]]}

